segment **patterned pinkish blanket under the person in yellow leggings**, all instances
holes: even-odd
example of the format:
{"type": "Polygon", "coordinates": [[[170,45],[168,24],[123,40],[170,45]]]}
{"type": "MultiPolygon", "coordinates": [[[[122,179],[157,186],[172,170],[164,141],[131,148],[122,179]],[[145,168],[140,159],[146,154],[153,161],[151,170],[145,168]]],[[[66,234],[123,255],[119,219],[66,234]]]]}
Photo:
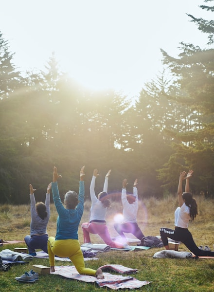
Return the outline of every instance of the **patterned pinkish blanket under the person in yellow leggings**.
{"type": "Polygon", "coordinates": [[[97,283],[99,287],[108,287],[113,290],[135,289],[150,283],[149,281],[139,281],[131,276],[112,275],[109,273],[104,273],[105,278],[98,280],[94,276],[79,274],[74,266],[55,266],[55,272],[50,272],[50,274],[58,274],[70,279],[97,283]]]}

